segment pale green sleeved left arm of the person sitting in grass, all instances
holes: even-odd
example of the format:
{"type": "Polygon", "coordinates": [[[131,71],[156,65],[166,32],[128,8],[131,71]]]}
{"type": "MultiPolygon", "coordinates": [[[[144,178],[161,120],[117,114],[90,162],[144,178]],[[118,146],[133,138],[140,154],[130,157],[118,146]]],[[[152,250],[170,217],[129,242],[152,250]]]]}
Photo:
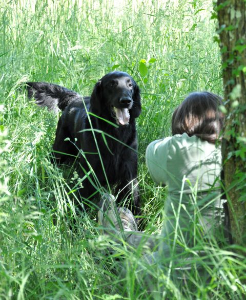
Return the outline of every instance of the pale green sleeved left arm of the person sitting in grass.
{"type": "Polygon", "coordinates": [[[167,157],[172,137],[156,140],[146,149],[146,164],[151,178],[158,185],[168,184],[167,157]]]}

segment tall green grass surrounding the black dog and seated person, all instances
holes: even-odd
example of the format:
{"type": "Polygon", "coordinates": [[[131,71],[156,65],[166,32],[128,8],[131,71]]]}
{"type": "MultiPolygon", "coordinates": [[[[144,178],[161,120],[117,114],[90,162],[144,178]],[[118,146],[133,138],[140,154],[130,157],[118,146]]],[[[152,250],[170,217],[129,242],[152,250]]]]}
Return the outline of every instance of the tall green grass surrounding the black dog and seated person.
{"type": "Polygon", "coordinates": [[[143,108],[137,121],[142,226],[159,233],[167,191],[151,181],[145,149],[170,135],[172,112],[188,93],[222,93],[212,3],[19,0],[2,2],[0,10],[0,298],[245,298],[245,258],[212,240],[200,241],[206,260],[194,258],[182,283],[171,269],[150,267],[139,249],[116,245],[106,255],[109,238],[99,234],[96,208],[75,211],[69,192],[77,174],[65,179],[66,171],[49,161],[57,117],[38,109],[23,87],[26,80],[48,81],[90,95],[112,70],[133,76],[143,108]],[[125,276],[117,272],[122,265],[125,276]],[[148,292],[139,269],[156,293],[148,292]]]}

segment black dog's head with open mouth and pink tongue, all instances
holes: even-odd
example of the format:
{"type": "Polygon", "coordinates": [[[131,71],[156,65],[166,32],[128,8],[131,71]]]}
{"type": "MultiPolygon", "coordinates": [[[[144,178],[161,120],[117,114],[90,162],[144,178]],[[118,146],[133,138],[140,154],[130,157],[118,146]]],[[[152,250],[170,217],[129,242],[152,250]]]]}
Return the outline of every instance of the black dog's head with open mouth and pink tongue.
{"type": "Polygon", "coordinates": [[[118,125],[127,125],[130,118],[141,113],[140,90],[125,72],[111,72],[101,78],[91,95],[90,111],[96,115],[106,112],[118,125]]]}

